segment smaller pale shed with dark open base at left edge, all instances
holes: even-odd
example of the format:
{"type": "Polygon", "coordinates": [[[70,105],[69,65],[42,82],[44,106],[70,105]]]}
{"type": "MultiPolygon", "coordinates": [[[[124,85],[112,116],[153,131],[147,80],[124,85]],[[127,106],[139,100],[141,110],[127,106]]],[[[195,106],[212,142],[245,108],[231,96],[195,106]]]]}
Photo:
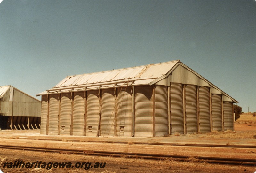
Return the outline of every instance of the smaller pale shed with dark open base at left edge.
{"type": "Polygon", "coordinates": [[[0,86],[0,128],[40,128],[41,101],[9,86],[0,86]]]}

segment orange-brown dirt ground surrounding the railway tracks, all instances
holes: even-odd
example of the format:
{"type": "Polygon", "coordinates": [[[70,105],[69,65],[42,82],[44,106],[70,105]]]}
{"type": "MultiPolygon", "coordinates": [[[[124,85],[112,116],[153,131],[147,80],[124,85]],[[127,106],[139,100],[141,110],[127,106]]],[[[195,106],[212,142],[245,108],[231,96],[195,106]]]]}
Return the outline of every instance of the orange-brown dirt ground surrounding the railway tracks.
{"type": "MultiPolygon", "coordinates": [[[[255,172],[256,167],[247,166],[227,166],[199,163],[197,156],[215,156],[229,158],[256,159],[256,149],[254,148],[224,148],[224,147],[183,147],[172,145],[146,145],[134,144],[134,142],[163,142],[163,143],[198,143],[198,144],[232,144],[232,145],[256,145],[256,123],[254,117],[248,117],[249,121],[235,123],[236,132],[218,132],[212,134],[190,134],[190,135],[170,135],[169,137],[154,138],[89,138],[84,136],[49,136],[40,135],[39,130],[27,131],[0,131],[1,145],[23,145],[50,148],[72,148],[84,150],[133,152],[133,153],[154,153],[154,154],[173,154],[189,155],[190,162],[178,162],[174,160],[148,161],[143,159],[94,157],[88,155],[60,154],[29,152],[19,150],[0,149],[0,169],[6,172],[255,172]],[[252,120],[252,122],[251,122],[252,120]],[[246,122],[246,123],[245,123],[246,122]],[[249,126],[251,125],[251,126],[249,126]],[[225,135],[225,136],[224,136],[225,135]],[[48,140],[45,140],[48,139],[48,140]],[[51,140],[49,140],[51,139],[51,140]],[[52,140],[52,139],[57,139],[52,140]],[[73,141],[72,141],[73,140],[73,141]],[[98,141],[98,142],[97,142],[98,141]],[[106,143],[104,141],[126,141],[126,144],[106,143]],[[70,162],[73,168],[7,168],[7,164],[22,160],[23,162],[45,162],[51,166],[51,162],[70,162]],[[8,162],[8,163],[6,163],[8,162]],[[76,168],[80,163],[84,165],[76,168]],[[91,165],[88,167],[89,163],[91,165]],[[97,162],[104,163],[104,168],[94,168],[97,162]],[[4,164],[5,167],[4,167],[4,164]],[[76,165],[76,166],[75,166],[76,165]],[[4,167],[4,168],[3,168],[4,167]],[[84,168],[88,168],[85,170],[84,168]]],[[[256,117],[255,117],[256,122],[256,117]]]]}

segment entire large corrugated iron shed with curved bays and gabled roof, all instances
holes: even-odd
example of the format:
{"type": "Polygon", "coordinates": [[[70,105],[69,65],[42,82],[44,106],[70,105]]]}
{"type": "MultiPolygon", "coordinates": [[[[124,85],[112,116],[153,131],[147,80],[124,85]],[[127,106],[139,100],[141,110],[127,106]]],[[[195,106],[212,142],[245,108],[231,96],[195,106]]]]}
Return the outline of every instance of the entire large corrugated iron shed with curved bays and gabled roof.
{"type": "Polygon", "coordinates": [[[236,102],[179,60],[67,76],[39,95],[42,134],[103,137],[232,129],[236,102]]]}

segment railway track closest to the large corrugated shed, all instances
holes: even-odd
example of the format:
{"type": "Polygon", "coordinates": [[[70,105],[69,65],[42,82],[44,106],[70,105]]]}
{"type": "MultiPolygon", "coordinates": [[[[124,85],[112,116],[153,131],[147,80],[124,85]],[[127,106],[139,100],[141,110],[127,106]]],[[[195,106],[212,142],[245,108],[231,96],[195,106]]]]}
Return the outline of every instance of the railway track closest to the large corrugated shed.
{"type": "MultiPolygon", "coordinates": [[[[21,139],[32,139],[32,138],[21,138],[21,139]]],[[[51,140],[51,141],[62,141],[62,139],[45,139],[45,138],[35,138],[35,140],[51,140]]],[[[123,141],[81,141],[70,139],[66,140],[68,142],[98,142],[98,143],[116,143],[116,144],[128,144],[128,142],[123,141]]],[[[165,145],[165,146],[186,146],[186,147],[225,147],[225,148],[256,148],[256,145],[222,145],[222,144],[182,144],[182,143],[160,143],[160,142],[133,142],[133,144],[138,145],[165,145]]]]}

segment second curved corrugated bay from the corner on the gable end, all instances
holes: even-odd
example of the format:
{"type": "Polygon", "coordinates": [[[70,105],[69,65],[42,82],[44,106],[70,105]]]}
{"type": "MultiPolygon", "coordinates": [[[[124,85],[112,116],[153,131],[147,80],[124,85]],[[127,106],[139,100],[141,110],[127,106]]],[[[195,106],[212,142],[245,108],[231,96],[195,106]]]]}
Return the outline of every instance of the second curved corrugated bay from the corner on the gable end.
{"type": "Polygon", "coordinates": [[[183,113],[183,86],[180,83],[171,83],[171,134],[184,134],[184,113],[183,113]]]}

